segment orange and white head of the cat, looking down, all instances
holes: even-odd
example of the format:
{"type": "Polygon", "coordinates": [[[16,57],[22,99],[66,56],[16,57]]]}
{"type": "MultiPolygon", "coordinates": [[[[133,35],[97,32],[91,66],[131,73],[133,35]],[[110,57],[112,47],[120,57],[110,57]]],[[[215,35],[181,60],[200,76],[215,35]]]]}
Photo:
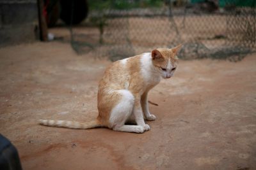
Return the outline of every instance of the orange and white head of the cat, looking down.
{"type": "Polygon", "coordinates": [[[173,76],[178,65],[177,53],[181,46],[182,45],[175,46],[174,48],[157,48],[152,51],[152,63],[163,78],[171,78],[173,76]]]}

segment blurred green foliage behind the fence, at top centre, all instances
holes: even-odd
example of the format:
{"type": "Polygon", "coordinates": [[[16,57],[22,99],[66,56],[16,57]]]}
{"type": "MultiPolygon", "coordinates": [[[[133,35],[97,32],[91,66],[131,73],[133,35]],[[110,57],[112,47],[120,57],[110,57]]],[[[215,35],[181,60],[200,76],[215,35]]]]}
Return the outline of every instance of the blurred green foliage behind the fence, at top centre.
{"type": "Polygon", "coordinates": [[[164,0],[88,0],[90,10],[129,10],[132,8],[159,8],[164,0]]]}

